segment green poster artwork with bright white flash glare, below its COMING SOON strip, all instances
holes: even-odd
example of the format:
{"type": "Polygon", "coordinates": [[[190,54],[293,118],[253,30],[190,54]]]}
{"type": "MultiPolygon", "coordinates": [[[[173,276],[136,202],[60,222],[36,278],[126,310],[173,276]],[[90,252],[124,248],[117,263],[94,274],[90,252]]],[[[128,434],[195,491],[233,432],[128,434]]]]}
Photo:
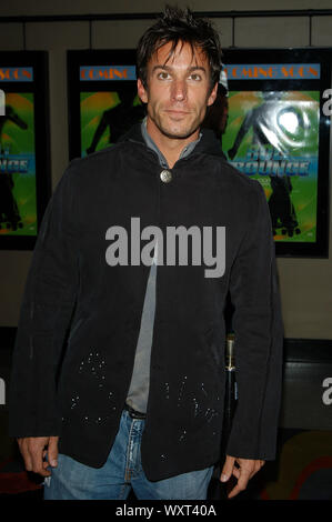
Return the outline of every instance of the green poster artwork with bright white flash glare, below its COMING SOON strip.
{"type": "Polygon", "coordinates": [[[275,241],[316,241],[319,91],[230,91],[222,147],[262,184],[275,241]]]}

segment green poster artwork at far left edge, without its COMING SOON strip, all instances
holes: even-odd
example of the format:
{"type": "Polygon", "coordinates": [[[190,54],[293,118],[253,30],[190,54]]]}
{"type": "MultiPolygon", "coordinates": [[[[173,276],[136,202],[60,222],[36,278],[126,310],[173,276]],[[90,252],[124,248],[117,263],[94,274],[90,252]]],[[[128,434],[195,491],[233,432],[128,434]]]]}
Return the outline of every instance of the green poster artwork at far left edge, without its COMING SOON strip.
{"type": "Polygon", "coordinates": [[[6,93],[0,117],[0,221],[2,235],[37,234],[33,93],[6,93]]]}

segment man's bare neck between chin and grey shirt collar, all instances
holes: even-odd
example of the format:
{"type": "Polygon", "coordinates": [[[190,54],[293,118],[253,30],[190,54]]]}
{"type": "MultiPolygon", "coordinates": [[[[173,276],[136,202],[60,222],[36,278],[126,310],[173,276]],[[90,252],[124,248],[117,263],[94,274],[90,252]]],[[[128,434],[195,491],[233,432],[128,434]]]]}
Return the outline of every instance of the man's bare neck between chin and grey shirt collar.
{"type": "Polygon", "coordinates": [[[162,152],[164,158],[167,159],[167,162],[172,169],[175,164],[175,162],[179,160],[180,154],[184,147],[187,147],[189,143],[192,141],[197,141],[199,139],[200,131],[199,129],[191,134],[188,138],[179,138],[179,139],[173,139],[169,138],[164,134],[162,134],[159,129],[157,129],[155,124],[148,118],[147,119],[147,130],[159,148],[159,150],[162,152]]]}

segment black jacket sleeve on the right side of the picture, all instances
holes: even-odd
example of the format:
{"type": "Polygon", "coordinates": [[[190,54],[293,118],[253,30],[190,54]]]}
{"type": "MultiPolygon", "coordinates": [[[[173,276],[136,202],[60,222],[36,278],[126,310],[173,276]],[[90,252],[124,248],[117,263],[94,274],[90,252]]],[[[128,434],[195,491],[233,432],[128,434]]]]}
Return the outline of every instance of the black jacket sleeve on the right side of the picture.
{"type": "Polygon", "coordinates": [[[273,460],[281,403],[283,325],[270,211],[261,184],[254,182],[253,188],[252,219],[230,281],[238,401],[227,454],[273,460]]]}

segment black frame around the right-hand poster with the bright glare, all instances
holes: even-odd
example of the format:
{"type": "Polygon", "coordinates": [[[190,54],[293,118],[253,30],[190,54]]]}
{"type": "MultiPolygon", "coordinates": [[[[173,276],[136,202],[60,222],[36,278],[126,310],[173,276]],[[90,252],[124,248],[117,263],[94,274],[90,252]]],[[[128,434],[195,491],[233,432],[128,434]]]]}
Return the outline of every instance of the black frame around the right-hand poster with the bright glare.
{"type": "MultiPolygon", "coordinates": [[[[228,70],[229,91],[319,91],[320,135],[318,151],[316,240],[314,242],[274,241],[275,253],[283,258],[329,258],[330,171],[331,171],[331,116],[323,107],[324,93],[331,89],[331,48],[292,49],[225,49],[223,62],[228,70]],[[273,79],[266,77],[234,79],[231,67],[239,64],[319,64],[319,79],[273,79]]],[[[234,72],[237,69],[234,68],[234,72]]],[[[273,76],[272,71],[271,76],[273,76]]],[[[227,132],[227,131],[225,131],[227,132]]]]}

